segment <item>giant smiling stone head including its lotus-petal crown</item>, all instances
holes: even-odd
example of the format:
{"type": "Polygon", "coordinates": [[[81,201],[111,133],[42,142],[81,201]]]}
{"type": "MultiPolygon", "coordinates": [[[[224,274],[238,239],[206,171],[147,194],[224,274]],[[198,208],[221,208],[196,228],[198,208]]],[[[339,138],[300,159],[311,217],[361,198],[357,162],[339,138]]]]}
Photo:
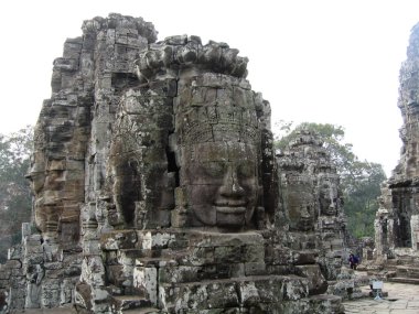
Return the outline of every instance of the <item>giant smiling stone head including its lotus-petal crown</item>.
{"type": "Polygon", "coordinates": [[[171,226],[243,230],[264,228],[272,216],[273,192],[259,193],[262,166],[265,186],[273,186],[270,108],[251,90],[247,58],[237,54],[224,43],[174,36],[150,46],[136,63],[139,79],[153,89],[147,97],[157,101],[165,95],[164,104],[173,105],[171,226]],[[262,202],[270,202],[267,218],[262,202]]]}

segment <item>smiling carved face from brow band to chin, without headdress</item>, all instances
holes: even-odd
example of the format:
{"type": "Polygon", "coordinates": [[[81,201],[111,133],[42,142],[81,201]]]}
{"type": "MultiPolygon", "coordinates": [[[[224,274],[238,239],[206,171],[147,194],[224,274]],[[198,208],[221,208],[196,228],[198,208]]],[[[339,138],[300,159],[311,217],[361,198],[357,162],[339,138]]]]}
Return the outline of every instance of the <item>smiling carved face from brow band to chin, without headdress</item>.
{"type": "Polygon", "coordinates": [[[204,142],[183,150],[192,225],[240,229],[251,224],[258,199],[257,149],[240,142],[204,142]]]}

